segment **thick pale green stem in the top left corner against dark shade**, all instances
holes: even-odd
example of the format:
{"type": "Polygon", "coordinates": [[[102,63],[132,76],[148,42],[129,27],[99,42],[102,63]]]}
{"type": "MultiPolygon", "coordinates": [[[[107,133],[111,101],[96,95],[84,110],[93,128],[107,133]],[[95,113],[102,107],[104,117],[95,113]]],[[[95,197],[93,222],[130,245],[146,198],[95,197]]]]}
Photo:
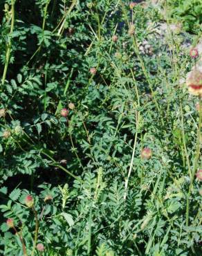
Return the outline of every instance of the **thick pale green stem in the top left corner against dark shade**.
{"type": "Polygon", "coordinates": [[[3,85],[5,83],[6,80],[6,74],[8,71],[8,64],[10,61],[10,51],[11,51],[11,39],[9,38],[9,36],[12,34],[13,29],[14,29],[14,23],[15,23],[15,1],[12,0],[12,6],[11,6],[11,25],[10,25],[10,33],[8,35],[8,45],[7,45],[7,49],[6,49],[6,62],[4,65],[4,69],[3,69],[3,77],[1,80],[1,84],[3,85]]]}

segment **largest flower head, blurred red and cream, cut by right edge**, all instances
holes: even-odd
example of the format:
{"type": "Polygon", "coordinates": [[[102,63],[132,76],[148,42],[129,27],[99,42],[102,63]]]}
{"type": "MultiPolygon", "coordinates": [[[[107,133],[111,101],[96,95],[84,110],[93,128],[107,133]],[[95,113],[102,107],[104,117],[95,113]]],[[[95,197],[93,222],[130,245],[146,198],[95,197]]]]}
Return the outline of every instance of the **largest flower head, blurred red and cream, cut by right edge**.
{"type": "Polygon", "coordinates": [[[202,73],[194,68],[186,79],[186,84],[191,94],[202,95],[202,73]]]}

